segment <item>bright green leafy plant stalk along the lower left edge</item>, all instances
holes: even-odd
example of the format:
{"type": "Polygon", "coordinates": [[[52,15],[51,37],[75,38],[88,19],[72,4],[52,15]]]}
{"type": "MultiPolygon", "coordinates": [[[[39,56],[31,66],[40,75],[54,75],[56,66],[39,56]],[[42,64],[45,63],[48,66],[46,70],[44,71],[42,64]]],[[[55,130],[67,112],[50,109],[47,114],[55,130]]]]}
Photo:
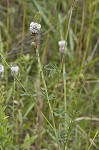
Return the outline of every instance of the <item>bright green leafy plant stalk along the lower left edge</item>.
{"type": "Polygon", "coordinates": [[[8,122],[8,116],[5,114],[5,92],[4,87],[0,88],[0,149],[10,149],[11,146],[11,127],[8,122]]]}

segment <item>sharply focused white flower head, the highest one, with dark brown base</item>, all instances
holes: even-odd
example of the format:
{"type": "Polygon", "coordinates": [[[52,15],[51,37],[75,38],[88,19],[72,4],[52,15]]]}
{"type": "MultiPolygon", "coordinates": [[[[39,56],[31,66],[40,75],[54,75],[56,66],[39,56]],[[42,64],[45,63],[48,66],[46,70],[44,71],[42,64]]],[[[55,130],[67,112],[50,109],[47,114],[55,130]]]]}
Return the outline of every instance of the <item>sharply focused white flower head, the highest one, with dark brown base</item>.
{"type": "Polygon", "coordinates": [[[36,22],[30,23],[30,32],[31,34],[37,34],[41,29],[41,24],[38,24],[36,22]]]}

